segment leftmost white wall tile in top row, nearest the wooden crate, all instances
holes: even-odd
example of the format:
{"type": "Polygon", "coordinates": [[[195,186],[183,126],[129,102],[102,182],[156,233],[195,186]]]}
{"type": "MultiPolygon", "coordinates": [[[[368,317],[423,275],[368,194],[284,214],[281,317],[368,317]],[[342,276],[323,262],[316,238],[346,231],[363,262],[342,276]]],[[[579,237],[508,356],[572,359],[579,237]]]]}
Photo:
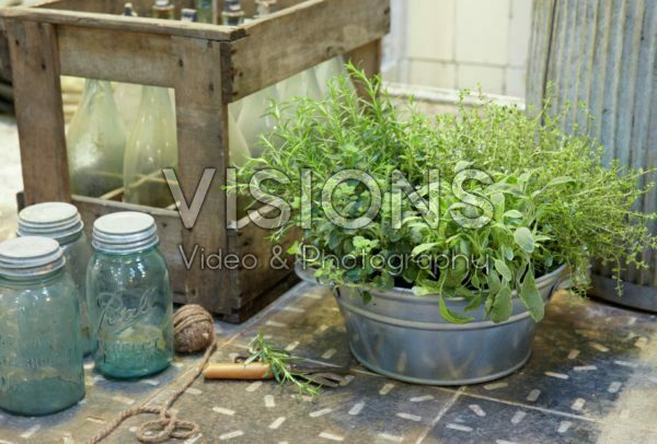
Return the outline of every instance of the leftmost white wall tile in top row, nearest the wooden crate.
{"type": "Polygon", "coordinates": [[[456,0],[413,0],[406,12],[406,55],[452,60],[456,0]]]}

